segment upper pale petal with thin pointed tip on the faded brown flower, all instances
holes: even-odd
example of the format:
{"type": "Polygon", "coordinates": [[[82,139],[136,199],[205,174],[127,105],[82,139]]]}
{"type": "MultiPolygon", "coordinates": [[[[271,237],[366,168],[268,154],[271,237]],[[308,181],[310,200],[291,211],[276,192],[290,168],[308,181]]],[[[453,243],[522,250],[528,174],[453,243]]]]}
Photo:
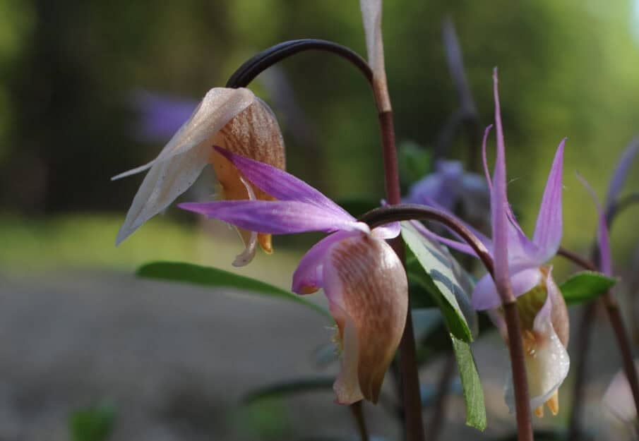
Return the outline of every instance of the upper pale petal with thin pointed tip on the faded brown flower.
{"type": "Polygon", "coordinates": [[[157,158],[141,167],[114,176],[112,180],[140,173],[153,167],[153,164],[166,161],[198,147],[201,143],[212,138],[234,116],[249,107],[254,100],[255,95],[249,89],[215,87],[209,90],[197,109],[193,111],[189,121],[186,121],[173,135],[157,158]]]}

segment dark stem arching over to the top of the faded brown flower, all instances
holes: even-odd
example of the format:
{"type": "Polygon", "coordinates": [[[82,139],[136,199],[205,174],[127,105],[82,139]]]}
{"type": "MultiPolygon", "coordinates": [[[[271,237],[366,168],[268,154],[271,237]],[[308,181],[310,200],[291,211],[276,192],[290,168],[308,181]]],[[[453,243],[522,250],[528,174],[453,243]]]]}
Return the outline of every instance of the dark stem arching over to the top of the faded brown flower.
{"type": "Polygon", "coordinates": [[[298,52],[309,50],[330,52],[350,61],[351,64],[362,72],[362,74],[366,77],[366,80],[368,80],[369,83],[372,83],[373,71],[371,71],[366,60],[357,53],[335,42],[305,38],[302,40],[291,40],[275,44],[275,46],[269,47],[268,49],[265,49],[259,54],[253,56],[253,58],[239,66],[237,71],[231,75],[227,81],[226,87],[246,87],[256,78],[257,75],[265,71],[270,66],[273,66],[273,64],[297,54],[298,52]]]}

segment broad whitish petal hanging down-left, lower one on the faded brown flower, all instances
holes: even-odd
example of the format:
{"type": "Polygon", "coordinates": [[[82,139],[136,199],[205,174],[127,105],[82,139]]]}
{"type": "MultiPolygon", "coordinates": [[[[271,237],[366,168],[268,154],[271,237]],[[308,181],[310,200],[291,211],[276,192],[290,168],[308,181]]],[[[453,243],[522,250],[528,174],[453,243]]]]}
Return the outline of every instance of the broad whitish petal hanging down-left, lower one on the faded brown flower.
{"type": "Polygon", "coordinates": [[[116,239],[119,245],[131,236],[139,226],[168,207],[198,179],[208,164],[210,149],[206,145],[172,157],[169,161],[157,162],[151,167],[138,189],[124,224],[116,239]]]}

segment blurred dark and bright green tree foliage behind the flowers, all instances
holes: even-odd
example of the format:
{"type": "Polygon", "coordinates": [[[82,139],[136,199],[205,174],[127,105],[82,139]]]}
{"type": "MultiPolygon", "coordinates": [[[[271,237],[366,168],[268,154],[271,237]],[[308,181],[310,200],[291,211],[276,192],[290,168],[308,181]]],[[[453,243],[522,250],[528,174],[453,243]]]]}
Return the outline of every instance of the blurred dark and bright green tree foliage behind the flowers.
{"type": "MultiPolygon", "coordinates": [[[[509,176],[519,178],[510,194],[525,223],[534,222],[526,214],[566,135],[566,224],[581,221],[590,202],[573,170],[602,192],[616,155],[639,131],[633,10],[631,0],[386,1],[398,140],[432,146],[457,107],[441,41],[450,14],[482,125],[492,118],[491,68],[500,68],[509,176]]],[[[124,214],[141,178],[111,183],[109,176],[148,162],[162,147],[133,135],[132,93],[198,99],[256,51],[300,37],[364,54],[359,2],[0,0],[0,207],[124,214]]],[[[304,116],[274,105],[289,169],[333,197],[380,198],[376,113],[359,73],[323,53],[295,56],[281,72],[304,116]],[[291,135],[301,123],[306,138],[291,135]]],[[[252,87],[279,102],[267,86],[252,87]]],[[[464,143],[455,138],[450,157],[464,157],[464,143]]],[[[594,229],[594,212],[586,213],[594,229]]],[[[566,234],[585,241],[592,229],[566,234]]]]}

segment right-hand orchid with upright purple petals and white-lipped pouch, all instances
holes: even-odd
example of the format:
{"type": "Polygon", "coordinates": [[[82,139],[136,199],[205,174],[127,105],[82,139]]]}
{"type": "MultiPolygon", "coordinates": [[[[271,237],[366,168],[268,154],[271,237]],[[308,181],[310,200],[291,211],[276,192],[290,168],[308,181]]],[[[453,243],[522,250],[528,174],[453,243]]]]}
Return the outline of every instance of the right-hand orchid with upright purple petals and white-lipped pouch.
{"type": "MultiPolygon", "coordinates": [[[[486,128],[483,140],[484,171],[491,192],[492,240],[471,226],[474,234],[484,243],[494,260],[494,277],[510,284],[516,298],[525,364],[530,391],[530,403],[537,416],[543,416],[544,403],[553,414],[559,411],[559,386],[568,375],[570,361],[568,345],[568,311],[558,286],[551,277],[551,267],[546,262],[552,258],[561,242],[561,176],[563,162],[562,140],[557,148],[544,196],[542,198],[532,241],[525,236],[510,210],[506,195],[506,152],[503,143],[501,111],[499,108],[498,80],[494,76],[495,125],[497,155],[493,179],[486,164],[486,138],[491,126],[486,128]]],[[[436,205],[429,203],[429,205],[436,205]]],[[[442,243],[462,253],[475,255],[465,243],[436,236],[425,228],[423,234],[437,238],[442,243]]],[[[472,293],[472,306],[476,310],[494,310],[491,318],[508,339],[506,324],[501,316],[501,297],[493,277],[486,274],[477,282],[472,293]],[[496,309],[496,310],[495,310],[496,309]]],[[[506,402],[514,409],[512,380],[506,385],[506,402]]]]}

